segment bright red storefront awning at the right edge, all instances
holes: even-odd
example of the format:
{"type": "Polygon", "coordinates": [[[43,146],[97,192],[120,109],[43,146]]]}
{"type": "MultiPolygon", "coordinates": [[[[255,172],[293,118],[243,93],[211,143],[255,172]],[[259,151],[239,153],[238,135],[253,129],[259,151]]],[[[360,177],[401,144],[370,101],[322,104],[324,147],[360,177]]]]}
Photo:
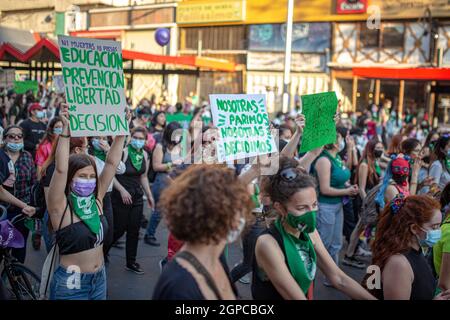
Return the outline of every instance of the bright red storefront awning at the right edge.
{"type": "Polygon", "coordinates": [[[370,79],[450,80],[450,68],[353,68],[353,75],[370,79]]]}

